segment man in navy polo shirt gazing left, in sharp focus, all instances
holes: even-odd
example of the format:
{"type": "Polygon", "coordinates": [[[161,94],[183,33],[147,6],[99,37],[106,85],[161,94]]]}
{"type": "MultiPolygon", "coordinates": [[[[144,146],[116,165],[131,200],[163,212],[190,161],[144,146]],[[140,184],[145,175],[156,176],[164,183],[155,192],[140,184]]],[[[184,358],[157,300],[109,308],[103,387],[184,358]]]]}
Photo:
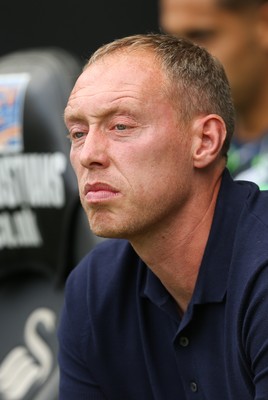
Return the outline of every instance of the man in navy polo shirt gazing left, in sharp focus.
{"type": "Polygon", "coordinates": [[[68,278],[60,399],[267,399],[268,193],[225,168],[222,66],[184,39],[119,39],[65,120],[91,229],[112,239],[68,278]]]}

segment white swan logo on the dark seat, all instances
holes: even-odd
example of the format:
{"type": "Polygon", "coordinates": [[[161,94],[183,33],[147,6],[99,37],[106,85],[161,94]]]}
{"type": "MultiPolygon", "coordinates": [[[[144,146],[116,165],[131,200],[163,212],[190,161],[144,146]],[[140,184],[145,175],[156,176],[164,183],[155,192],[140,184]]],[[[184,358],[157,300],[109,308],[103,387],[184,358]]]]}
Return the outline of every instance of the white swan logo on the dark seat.
{"type": "Polygon", "coordinates": [[[40,386],[52,372],[53,354],[37,332],[39,324],[53,333],[55,312],[38,308],[28,317],[24,331],[26,347],[15,347],[0,365],[0,399],[22,400],[33,386],[40,386]]]}

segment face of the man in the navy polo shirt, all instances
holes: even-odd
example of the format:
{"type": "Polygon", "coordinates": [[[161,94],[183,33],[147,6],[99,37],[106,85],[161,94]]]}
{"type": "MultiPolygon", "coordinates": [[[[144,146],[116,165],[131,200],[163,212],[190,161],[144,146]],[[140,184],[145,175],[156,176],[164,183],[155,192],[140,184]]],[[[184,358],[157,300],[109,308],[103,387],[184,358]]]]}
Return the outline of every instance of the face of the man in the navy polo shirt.
{"type": "Polygon", "coordinates": [[[179,127],[163,81],[151,54],[123,52],[88,67],[72,91],[70,157],[97,235],[159,232],[190,196],[191,134],[179,127]]]}

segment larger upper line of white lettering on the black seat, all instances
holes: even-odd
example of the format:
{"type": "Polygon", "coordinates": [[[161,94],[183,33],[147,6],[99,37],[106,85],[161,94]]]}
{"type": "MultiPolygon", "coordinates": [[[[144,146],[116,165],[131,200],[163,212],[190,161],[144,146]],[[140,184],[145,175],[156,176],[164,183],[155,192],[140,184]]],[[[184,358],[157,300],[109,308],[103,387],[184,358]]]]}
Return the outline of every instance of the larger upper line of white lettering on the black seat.
{"type": "Polygon", "coordinates": [[[62,174],[66,165],[62,153],[0,158],[0,208],[62,207],[65,203],[62,174]]]}

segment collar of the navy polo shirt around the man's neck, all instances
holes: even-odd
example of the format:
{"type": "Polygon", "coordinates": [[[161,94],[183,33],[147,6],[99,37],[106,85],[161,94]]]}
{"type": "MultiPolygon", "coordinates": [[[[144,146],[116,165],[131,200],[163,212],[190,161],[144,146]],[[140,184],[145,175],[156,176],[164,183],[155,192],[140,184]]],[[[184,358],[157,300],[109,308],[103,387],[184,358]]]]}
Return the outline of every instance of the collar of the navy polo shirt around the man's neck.
{"type": "MultiPolygon", "coordinates": [[[[191,305],[223,300],[235,231],[242,212],[241,205],[244,204],[248,191],[247,185],[234,182],[225,169],[191,305]]],[[[159,307],[163,307],[170,298],[160,280],[148,268],[143,295],[159,307]]]]}

